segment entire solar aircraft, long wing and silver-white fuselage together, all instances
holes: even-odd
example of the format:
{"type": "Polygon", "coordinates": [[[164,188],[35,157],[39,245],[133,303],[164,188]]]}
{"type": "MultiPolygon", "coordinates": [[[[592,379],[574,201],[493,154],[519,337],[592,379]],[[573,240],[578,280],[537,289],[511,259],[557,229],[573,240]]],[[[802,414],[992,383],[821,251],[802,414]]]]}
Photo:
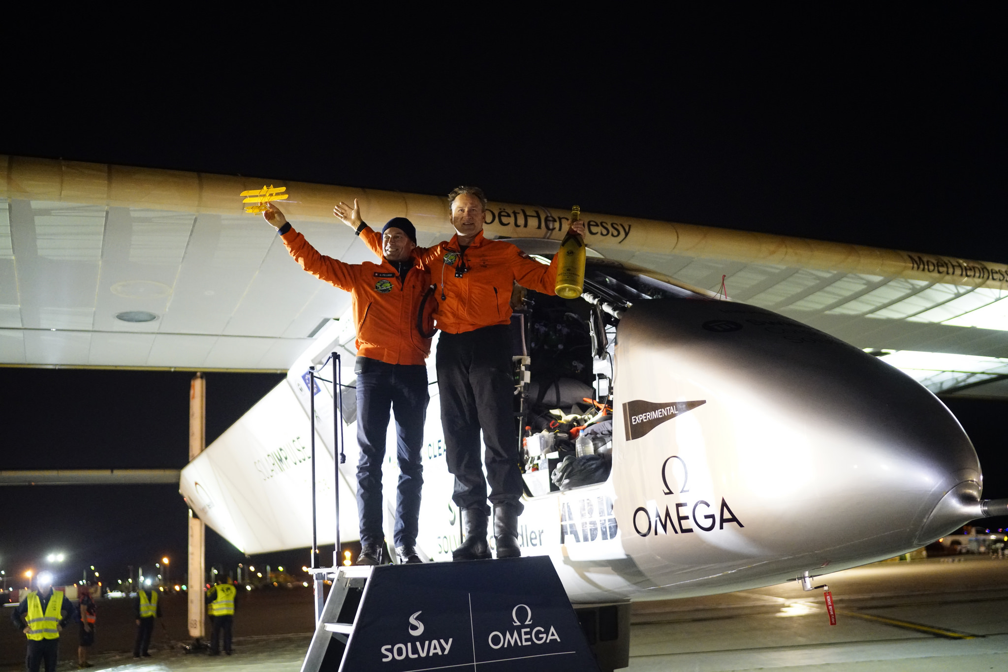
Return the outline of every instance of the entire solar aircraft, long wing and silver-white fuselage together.
{"type": "MultiPolygon", "coordinates": [[[[240,194],[266,184],[293,196],[284,211],[298,231],[348,263],[373,256],[334,204],[359,199],[372,224],[408,217],[421,245],[453,233],[444,196],[0,155],[0,366],[288,372],[181,474],[196,514],[247,553],[309,546],[312,486],[319,542],[336,539],[338,520],[343,540],[357,536],[353,395],[337,474],[332,368],[318,393],[305,380],[337,352],[354,384],[350,298],[245,214],[240,194]]],[[[569,213],[491,201],[484,231],[549,255],[569,213]]],[[[628,626],[630,599],[810,585],[806,572],[1008,512],[980,499],[976,452],[934,396],[1008,399],[1008,265],[582,216],[595,253],[586,300],[532,296],[523,326],[536,431],[579,391],[614,410],[600,482],[551,487],[553,460],[524,475],[522,552],[549,556],[574,602],[600,615],[616,602],[628,626]],[[547,375],[554,364],[571,377],[547,375]],[[538,404],[549,392],[536,388],[554,385],[555,404],[538,404]]],[[[443,561],[461,534],[433,361],[418,545],[443,561]]],[[[390,428],[386,538],[394,447],[390,428]]],[[[625,664],[627,628],[619,637],[625,664]]]]}

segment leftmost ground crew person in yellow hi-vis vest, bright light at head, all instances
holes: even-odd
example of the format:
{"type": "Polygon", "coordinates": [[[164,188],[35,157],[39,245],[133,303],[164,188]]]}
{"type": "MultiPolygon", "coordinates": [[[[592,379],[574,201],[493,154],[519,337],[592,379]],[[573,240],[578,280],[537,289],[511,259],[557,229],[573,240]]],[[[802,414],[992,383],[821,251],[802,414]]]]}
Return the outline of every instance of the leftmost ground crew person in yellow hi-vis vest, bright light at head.
{"type": "Polygon", "coordinates": [[[55,672],[59,656],[59,631],[74,614],[74,606],[64,596],[62,590],[52,589],[52,574],[38,572],[34,592],[21,600],[10,620],[28,638],[28,652],[24,669],[39,672],[42,661],[45,672],[55,672]]]}

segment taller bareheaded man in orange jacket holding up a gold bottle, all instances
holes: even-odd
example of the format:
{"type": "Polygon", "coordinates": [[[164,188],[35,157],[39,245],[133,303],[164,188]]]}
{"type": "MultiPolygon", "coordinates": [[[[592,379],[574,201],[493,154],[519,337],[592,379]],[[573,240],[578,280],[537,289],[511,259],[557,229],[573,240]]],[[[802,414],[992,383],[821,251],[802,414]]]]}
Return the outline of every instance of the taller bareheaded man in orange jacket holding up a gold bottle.
{"type": "MultiPolygon", "coordinates": [[[[497,557],[517,557],[521,555],[518,516],[524,506],[512,414],[511,290],[517,282],[555,294],[559,256],[544,266],[510,243],[485,239],[487,198],[478,187],[458,187],[449,194],[449,204],[456,235],[432,248],[416,248],[414,255],[437,285],[434,320],[442,332],[436,361],[442,427],[449,472],[455,475],[452,499],[462,510],[466,534],[452,557],[490,557],[488,482],[497,557]],[[486,477],[480,461],[481,429],[487,446],[486,477]]],[[[361,221],[356,200],[354,208],[340,204],[334,214],[380,253],[377,234],[361,221]]],[[[584,238],[583,222],[572,223],[571,229],[584,238]]]]}

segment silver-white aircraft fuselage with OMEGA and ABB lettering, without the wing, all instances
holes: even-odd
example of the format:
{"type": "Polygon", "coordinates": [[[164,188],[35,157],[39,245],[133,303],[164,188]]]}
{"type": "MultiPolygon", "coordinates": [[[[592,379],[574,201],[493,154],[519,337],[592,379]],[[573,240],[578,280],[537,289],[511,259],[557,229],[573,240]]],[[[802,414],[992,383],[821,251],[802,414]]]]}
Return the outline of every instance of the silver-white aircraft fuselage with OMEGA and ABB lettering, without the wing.
{"type": "MultiPolygon", "coordinates": [[[[585,298],[594,305],[576,301],[594,320],[586,332],[594,334],[595,396],[613,393],[612,467],[601,483],[526,496],[519,519],[522,553],[548,555],[572,601],[710,594],[826,574],[919,548],[1003,508],[981,502],[980,464],[952,413],[876,357],[764,308],[602,260],[589,260],[585,298]]],[[[246,553],[310,544],[307,370],[338,352],[352,385],[353,338],[349,313],[334,320],[285,382],[182,471],[190,506],[246,553]]],[[[425,559],[448,561],[461,533],[433,361],[417,546],[425,559]]],[[[332,368],[319,376],[319,542],[332,543],[332,368]]],[[[348,388],[343,540],[357,538],[352,398],[348,388]]],[[[390,423],[387,539],[394,455],[390,423]]]]}

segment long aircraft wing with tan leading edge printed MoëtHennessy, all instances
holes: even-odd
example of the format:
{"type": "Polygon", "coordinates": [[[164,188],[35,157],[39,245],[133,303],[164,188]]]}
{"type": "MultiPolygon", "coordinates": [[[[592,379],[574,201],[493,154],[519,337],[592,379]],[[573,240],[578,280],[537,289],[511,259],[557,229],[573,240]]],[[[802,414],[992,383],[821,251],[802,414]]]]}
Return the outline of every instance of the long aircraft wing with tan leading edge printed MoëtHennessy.
{"type": "MultiPolygon", "coordinates": [[[[0,365],[287,371],[349,307],[243,211],[286,187],[325,254],[371,259],[332,208],[451,236],[445,197],[0,156],[0,365]]],[[[570,213],[492,203],[487,235],[562,237],[570,213]]],[[[1008,398],[1008,266],[584,213],[589,245],[876,352],[931,391],[1008,398]]]]}

